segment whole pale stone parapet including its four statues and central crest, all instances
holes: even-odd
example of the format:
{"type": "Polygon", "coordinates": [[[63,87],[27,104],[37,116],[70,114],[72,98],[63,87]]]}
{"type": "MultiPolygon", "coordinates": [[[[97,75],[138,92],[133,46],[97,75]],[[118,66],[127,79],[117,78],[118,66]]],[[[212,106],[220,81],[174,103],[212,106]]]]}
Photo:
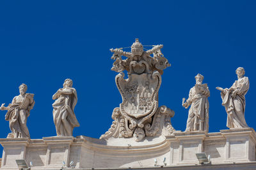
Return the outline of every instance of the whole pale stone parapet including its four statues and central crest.
{"type": "MultiPolygon", "coordinates": [[[[189,98],[182,106],[189,109],[185,132],[175,131],[171,118],[174,111],[159,106],[158,91],[163,69],[170,63],[161,52],[163,45],[152,45],[144,51],[138,39],[131,52],[110,49],[114,59],[112,70],[122,103],[114,108],[113,124],[100,139],[77,136],[72,132],[79,123],[74,113],[77,103],[72,80],[66,79],[52,99],[56,100],[52,115],[57,136],[30,139],[26,127],[27,113],[33,108],[33,94],[20,86],[20,96],[7,107],[6,120],[12,133],[0,139],[3,146],[1,170],[17,169],[15,160],[24,159],[31,169],[256,169],[256,132],[244,119],[245,94],[249,81],[243,67],[237,68],[237,81],[221,91],[227,111],[228,130],[208,133],[210,96],[204,76],[198,74],[189,98]],[[151,56],[153,55],[153,56],[151,56]],[[122,59],[126,57],[126,59],[122,59]],[[127,78],[123,71],[127,71],[127,78]],[[25,114],[26,113],[26,114],[25,114]],[[20,123],[21,122],[21,123],[20,123]],[[196,153],[208,155],[206,164],[199,164],[196,153]]],[[[205,155],[204,155],[205,156],[205,155]]]]}

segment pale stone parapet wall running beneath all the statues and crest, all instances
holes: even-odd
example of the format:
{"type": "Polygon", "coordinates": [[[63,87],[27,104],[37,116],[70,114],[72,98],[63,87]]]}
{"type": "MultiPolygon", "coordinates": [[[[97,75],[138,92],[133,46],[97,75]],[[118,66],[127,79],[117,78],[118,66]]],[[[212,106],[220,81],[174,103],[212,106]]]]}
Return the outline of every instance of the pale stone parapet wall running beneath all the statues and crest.
{"type": "Polygon", "coordinates": [[[33,162],[33,169],[60,169],[63,161],[77,169],[157,166],[195,166],[195,153],[211,155],[212,165],[255,161],[256,133],[252,128],[220,132],[180,132],[172,136],[94,139],[86,136],[43,139],[0,139],[4,148],[1,169],[17,169],[16,159],[33,162]]]}

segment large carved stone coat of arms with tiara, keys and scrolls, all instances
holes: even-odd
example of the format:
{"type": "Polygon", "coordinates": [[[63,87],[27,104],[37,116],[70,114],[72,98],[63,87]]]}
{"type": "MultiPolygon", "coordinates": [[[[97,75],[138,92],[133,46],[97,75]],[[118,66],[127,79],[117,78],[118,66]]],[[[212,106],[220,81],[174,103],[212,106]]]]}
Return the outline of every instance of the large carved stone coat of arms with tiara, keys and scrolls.
{"type": "Polygon", "coordinates": [[[100,139],[133,136],[135,141],[141,141],[145,136],[157,136],[162,129],[172,134],[170,117],[174,112],[166,106],[158,107],[161,74],[170,66],[161,48],[163,45],[154,45],[151,50],[144,51],[136,39],[131,52],[124,52],[122,48],[110,49],[114,53],[111,59],[115,60],[111,70],[119,73],[115,80],[123,101],[113,110],[113,124],[100,139]],[[122,59],[122,56],[127,59],[122,59]],[[127,71],[127,79],[122,71],[127,71]]]}

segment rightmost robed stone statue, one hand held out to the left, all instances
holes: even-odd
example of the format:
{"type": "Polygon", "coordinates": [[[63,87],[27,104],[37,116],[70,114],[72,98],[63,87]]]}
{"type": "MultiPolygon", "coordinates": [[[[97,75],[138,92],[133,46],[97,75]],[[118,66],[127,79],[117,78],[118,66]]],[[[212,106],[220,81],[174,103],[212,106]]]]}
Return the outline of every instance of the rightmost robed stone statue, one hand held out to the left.
{"type": "Polygon", "coordinates": [[[220,90],[222,105],[225,106],[227,112],[227,127],[229,128],[243,128],[248,127],[244,118],[245,109],[245,95],[249,90],[250,83],[248,77],[244,76],[244,68],[238,67],[236,69],[237,80],[229,89],[220,90]]]}

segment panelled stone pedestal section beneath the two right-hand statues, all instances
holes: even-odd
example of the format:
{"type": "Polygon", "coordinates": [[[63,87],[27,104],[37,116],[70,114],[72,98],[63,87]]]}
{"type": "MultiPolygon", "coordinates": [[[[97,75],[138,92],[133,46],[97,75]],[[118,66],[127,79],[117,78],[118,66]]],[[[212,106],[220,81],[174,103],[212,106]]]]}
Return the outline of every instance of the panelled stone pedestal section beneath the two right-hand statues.
{"type": "Polygon", "coordinates": [[[171,145],[170,164],[197,164],[195,153],[211,155],[212,163],[255,161],[256,133],[252,128],[220,132],[175,132],[166,137],[171,145]]]}

